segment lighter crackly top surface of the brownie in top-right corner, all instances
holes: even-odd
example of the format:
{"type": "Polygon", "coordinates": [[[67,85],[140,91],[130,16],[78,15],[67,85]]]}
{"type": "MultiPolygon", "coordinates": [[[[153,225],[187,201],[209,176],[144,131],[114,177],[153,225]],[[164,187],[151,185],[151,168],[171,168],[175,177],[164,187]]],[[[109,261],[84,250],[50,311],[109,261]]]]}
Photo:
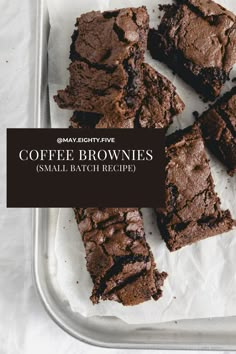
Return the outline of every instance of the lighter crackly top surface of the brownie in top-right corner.
{"type": "Polygon", "coordinates": [[[162,19],[160,32],[184,57],[200,67],[228,73],[236,62],[236,18],[209,0],[177,0],[162,19]]]}

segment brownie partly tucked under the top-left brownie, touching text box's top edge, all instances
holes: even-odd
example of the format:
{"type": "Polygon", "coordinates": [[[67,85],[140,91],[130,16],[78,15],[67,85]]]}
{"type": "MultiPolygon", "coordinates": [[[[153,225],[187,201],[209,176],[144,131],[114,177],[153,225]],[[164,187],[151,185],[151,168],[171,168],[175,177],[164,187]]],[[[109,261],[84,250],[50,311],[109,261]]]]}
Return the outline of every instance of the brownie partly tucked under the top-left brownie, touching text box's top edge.
{"type": "Polygon", "coordinates": [[[136,114],[129,119],[117,115],[101,115],[89,112],[74,112],[71,124],[74,128],[168,128],[173,117],[185,107],[176,93],[176,88],[163,75],[144,63],[144,98],[136,114]]]}

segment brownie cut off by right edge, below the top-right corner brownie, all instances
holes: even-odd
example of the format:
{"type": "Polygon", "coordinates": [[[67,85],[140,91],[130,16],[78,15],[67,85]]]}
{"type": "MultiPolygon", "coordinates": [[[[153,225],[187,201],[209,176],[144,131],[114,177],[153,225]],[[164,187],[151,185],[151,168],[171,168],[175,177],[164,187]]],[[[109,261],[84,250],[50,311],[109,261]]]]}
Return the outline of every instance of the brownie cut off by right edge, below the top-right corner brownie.
{"type": "Polygon", "coordinates": [[[233,176],[236,172],[236,87],[204,112],[197,122],[206,145],[233,176]]]}

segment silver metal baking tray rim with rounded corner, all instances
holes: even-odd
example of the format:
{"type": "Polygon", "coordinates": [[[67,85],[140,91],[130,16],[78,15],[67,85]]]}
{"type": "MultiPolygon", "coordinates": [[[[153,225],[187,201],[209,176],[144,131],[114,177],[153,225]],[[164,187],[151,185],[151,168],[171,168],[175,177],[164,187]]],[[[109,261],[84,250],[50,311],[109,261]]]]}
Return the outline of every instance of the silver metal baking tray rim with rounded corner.
{"type": "MultiPolygon", "coordinates": [[[[47,40],[49,18],[45,0],[37,0],[35,127],[49,127],[47,40]]],[[[48,314],[75,338],[102,347],[172,350],[236,350],[236,318],[129,325],[115,317],[83,317],[65,302],[56,279],[55,210],[34,209],[33,275],[48,314]]],[[[158,314],[156,314],[158,317],[158,314]]]]}

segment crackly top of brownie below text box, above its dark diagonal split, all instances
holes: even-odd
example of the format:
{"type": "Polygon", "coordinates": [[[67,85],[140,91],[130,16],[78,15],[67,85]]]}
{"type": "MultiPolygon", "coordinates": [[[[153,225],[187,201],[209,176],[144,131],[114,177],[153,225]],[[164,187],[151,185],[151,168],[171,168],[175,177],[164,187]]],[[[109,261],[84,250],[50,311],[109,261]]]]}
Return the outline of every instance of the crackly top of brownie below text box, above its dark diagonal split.
{"type": "Polygon", "coordinates": [[[98,292],[101,279],[117,263],[117,257],[121,257],[121,268],[123,257],[131,254],[139,256],[137,262],[145,261],[148,249],[144,242],[142,218],[137,209],[78,208],[75,211],[85,244],[87,268],[99,285],[98,292]]]}

